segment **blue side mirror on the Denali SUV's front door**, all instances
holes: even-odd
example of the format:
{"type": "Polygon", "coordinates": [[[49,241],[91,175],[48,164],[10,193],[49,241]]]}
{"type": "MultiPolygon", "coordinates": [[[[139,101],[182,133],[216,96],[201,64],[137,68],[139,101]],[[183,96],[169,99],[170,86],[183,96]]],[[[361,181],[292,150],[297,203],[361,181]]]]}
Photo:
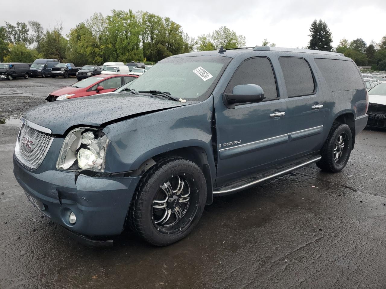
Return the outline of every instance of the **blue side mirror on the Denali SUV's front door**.
{"type": "Polygon", "coordinates": [[[235,108],[236,103],[260,102],[264,98],[263,89],[256,84],[240,84],[233,87],[232,93],[224,94],[227,108],[235,108]]]}

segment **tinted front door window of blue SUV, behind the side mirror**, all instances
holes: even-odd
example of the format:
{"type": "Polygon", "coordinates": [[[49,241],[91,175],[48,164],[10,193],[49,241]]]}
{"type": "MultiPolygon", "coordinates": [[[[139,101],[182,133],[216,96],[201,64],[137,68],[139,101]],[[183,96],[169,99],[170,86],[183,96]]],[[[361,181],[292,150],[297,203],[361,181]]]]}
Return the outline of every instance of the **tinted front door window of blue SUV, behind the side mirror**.
{"type": "Polygon", "coordinates": [[[233,87],[240,84],[257,84],[263,89],[266,98],[278,97],[271,62],[266,57],[251,58],[242,62],[232,76],[225,93],[231,93],[233,87]]]}

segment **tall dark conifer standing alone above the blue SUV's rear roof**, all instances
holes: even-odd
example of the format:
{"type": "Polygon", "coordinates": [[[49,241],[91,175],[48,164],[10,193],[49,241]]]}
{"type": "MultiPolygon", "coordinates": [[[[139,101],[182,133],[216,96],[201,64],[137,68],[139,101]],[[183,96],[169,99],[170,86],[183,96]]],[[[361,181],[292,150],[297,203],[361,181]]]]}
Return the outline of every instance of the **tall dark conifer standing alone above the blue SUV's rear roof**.
{"type": "Polygon", "coordinates": [[[322,19],[317,22],[315,19],[311,24],[310,32],[311,34],[308,36],[311,39],[308,43],[308,49],[332,51],[332,36],[326,22],[322,19]]]}

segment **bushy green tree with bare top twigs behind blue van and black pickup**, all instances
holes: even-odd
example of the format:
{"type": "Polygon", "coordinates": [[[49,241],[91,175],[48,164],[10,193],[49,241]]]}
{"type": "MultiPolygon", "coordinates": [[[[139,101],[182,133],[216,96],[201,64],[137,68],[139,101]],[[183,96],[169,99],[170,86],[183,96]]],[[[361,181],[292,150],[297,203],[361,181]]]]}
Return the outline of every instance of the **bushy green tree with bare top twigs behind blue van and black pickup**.
{"type": "Polygon", "coordinates": [[[46,58],[59,59],[63,61],[66,59],[68,42],[62,35],[63,25],[58,23],[54,30],[47,30],[42,42],[42,54],[46,58]]]}

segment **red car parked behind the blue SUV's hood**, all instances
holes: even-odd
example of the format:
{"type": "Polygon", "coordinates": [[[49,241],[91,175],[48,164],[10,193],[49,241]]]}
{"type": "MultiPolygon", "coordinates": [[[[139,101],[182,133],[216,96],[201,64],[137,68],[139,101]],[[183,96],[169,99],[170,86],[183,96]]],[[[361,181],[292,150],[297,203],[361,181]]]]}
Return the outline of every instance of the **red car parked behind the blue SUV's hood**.
{"type": "Polygon", "coordinates": [[[128,74],[99,74],[91,76],[73,85],[51,92],[47,96],[46,101],[51,102],[114,91],[136,78],[138,78],[138,76],[128,74]]]}

